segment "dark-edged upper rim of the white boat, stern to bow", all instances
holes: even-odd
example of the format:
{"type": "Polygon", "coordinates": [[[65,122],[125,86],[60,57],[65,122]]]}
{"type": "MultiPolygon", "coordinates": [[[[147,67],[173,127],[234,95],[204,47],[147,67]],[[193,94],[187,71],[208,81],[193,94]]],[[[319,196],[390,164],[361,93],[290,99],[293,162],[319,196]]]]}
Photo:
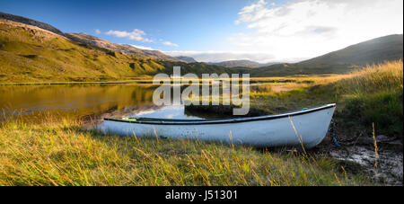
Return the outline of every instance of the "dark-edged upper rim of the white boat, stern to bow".
{"type": "Polygon", "coordinates": [[[241,123],[241,122],[250,122],[250,121],[259,121],[259,120],[276,120],[285,117],[292,117],[297,115],[303,115],[307,113],[312,113],[315,111],[322,111],[325,109],[330,109],[336,107],[336,103],[331,103],[328,105],[307,109],[303,111],[293,111],[288,113],[281,113],[275,115],[266,115],[266,116],[258,116],[258,117],[248,117],[248,118],[238,118],[238,119],[213,119],[213,120],[171,120],[171,122],[165,122],[164,119],[154,119],[154,118],[129,118],[134,120],[121,120],[121,119],[110,119],[104,118],[107,121],[116,121],[116,122],[126,122],[126,123],[135,123],[135,124],[145,124],[145,125],[209,125],[209,124],[224,124],[224,123],[241,123]],[[156,120],[156,121],[142,121],[144,120],[156,120]]]}

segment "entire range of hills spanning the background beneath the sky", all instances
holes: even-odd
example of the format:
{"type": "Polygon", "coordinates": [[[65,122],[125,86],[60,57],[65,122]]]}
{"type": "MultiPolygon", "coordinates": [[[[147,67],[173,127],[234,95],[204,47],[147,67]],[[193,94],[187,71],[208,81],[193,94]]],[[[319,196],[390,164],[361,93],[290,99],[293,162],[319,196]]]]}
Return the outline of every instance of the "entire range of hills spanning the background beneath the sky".
{"type": "Polygon", "coordinates": [[[106,81],[181,74],[249,73],[251,76],[347,73],[366,64],[403,56],[403,35],[358,43],[299,63],[259,64],[250,60],[219,63],[171,57],[158,50],[115,44],[86,33],[64,33],[44,23],[0,13],[0,83],[106,81]]]}

